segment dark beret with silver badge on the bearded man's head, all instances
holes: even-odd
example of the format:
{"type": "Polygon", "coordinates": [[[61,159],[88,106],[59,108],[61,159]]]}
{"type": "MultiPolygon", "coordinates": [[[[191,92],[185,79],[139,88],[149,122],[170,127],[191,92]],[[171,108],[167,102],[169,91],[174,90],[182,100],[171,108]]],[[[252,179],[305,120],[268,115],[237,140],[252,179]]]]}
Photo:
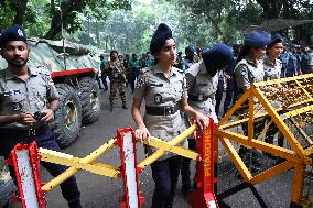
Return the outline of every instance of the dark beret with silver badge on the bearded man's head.
{"type": "Polygon", "coordinates": [[[3,47],[8,41],[23,41],[28,43],[28,37],[23,28],[19,24],[8,28],[0,35],[0,47],[3,47]]]}

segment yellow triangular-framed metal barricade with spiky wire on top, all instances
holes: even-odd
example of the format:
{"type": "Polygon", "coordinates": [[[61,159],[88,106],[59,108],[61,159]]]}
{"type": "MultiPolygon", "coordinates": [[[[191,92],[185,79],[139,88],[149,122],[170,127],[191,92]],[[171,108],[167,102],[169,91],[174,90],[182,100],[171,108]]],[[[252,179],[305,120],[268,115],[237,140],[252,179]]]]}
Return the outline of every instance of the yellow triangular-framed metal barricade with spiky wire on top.
{"type": "Polygon", "coordinates": [[[222,118],[216,130],[217,138],[246,182],[259,184],[294,168],[291,201],[298,205],[303,202],[304,169],[306,165],[313,166],[312,102],[313,74],[256,83],[222,118]],[[248,109],[248,114],[240,111],[245,108],[248,109]],[[261,119],[267,124],[256,135],[255,121],[261,119]],[[249,127],[248,135],[238,131],[244,123],[249,127]],[[266,142],[270,125],[276,127],[278,133],[284,136],[287,146],[280,147],[266,142]],[[252,177],[231,141],[287,161],[252,177]]]}

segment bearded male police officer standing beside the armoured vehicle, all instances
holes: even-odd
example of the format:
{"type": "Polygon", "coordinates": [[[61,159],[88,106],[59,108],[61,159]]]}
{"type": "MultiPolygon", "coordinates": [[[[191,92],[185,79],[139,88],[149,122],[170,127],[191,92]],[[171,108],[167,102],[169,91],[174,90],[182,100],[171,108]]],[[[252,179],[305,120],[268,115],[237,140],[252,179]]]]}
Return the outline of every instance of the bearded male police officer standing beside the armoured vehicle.
{"type": "MultiPolygon", "coordinates": [[[[43,66],[28,67],[30,47],[20,25],[9,28],[0,36],[1,56],[8,68],[0,72],[0,155],[8,157],[18,144],[36,141],[40,147],[60,151],[48,123],[58,107],[58,94],[43,66]]],[[[51,175],[64,166],[42,162],[51,175]]],[[[14,169],[10,167],[12,178],[14,169]]],[[[80,193],[75,177],[61,184],[62,195],[71,208],[80,208],[80,193]]]]}

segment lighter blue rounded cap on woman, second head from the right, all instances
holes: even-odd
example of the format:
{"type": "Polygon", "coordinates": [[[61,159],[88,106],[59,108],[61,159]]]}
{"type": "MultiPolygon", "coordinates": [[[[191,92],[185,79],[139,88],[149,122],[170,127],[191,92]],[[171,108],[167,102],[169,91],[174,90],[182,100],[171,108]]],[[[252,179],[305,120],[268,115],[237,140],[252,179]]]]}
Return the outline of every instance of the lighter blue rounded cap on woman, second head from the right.
{"type": "Polygon", "coordinates": [[[271,40],[270,34],[265,31],[252,31],[245,37],[245,45],[249,47],[265,47],[271,40]]]}

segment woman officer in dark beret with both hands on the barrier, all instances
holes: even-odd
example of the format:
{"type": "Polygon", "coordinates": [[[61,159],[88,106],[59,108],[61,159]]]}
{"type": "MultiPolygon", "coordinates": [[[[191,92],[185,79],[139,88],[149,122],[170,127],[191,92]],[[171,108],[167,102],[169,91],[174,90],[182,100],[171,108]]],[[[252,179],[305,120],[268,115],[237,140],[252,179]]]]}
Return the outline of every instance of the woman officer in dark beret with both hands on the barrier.
{"type": "MultiPolygon", "coordinates": [[[[181,112],[194,117],[201,127],[208,125],[208,119],[187,103],[186,81],[183,70],[173,67],[176,61],[176,46],[172,31],[160,24],[150,43],[151,54],[156,64],[141,69],[133,92],[132,117],[137,123],[136,136],[147,140],[150,135],[171,141],[185,130],[181,112]],[[142,119],[140,107],[145,101],[142,119]]],[[[183,142],[186,146],[186,142],[183,142]]],[[[148,153],[155,149],[148,146],[148,153]]],[[[166,153],[153,164],[152,178],[155,189],[152,197],[153,208],[173,206],[182,157],[166,153]]]]}

